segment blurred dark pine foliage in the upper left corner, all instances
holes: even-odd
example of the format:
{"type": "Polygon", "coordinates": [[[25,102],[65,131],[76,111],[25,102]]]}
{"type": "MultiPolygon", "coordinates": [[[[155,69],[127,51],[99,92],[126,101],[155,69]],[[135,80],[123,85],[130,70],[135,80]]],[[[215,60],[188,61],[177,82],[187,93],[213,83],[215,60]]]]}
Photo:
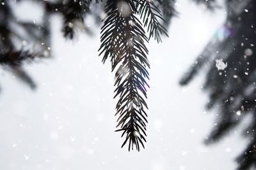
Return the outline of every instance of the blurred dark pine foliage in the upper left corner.
{"type": "Polygon", "coordinates": [[[15,6],[25,1],[29,0],[0,1],[0,66],[35,89],[36,83],[22,64],[51,57],[51,15],[58,13],[62,16],[63,36],[74,39],[77,29],[89,32],[84,26],[84,18],[90,13],[92,1],[30,1],[40,4],[43,9],[42,23],[22,21],[13,12],[15,6]]]}

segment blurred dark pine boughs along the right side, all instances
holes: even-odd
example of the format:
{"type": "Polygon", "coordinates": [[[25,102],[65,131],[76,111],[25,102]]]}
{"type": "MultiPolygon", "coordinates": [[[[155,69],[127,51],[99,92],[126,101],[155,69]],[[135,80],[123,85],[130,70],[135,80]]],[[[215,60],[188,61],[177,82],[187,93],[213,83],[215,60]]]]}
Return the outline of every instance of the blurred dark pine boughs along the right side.
{"type": "Polygon", "coordinates": [[[184,75],[180,84],[186,85],[200,71],[207,69],[204,89],[209,91],[207,108],[218,108],[216,126],[205,141],[214,143],[234,129],[250,114],[252,122],[244,129],[244,136],[250,139],[239,157],[237,169],[256,166],[256,81],[255,81],[255,39],[256,1],[227,1],[227,20],[216,32],[205,50],[196,59],[196,64],[184,75]],[[218,61],[223,66],[218,70],[218,61]],[[227,65],[226,65],[227,64],[227,65]]]}

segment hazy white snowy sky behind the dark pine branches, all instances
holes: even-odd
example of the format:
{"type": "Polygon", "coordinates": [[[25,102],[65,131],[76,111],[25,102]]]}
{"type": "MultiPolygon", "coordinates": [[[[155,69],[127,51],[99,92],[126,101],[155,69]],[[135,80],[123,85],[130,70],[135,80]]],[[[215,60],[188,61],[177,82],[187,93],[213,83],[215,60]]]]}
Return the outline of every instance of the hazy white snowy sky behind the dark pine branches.
{"type": "MultiPolygon", "coordinates": [[[[29,10],[42,13],[35,6],[23,4],[17,10],[35,20],[29,10]]],[[[99,27],[88,20],[95,36],[81,34],[72,43],[62,38],[61,18],[56,16],[52,17],[54,58],[26,66],[38,84],[35,92],[0,71],[0,169],[235,169],[234,158],[246,143],[239,130],[216,145],[203,144],[217,114],[204,111],[207,95],[200,90],[204,73],[188,87],[179,86],[182,73],[225,21],[225,9],[205,12],[180,0],[177,10],[170,38],[148,44],[145,150],[121,149],[124,138],[114,132],[113,73],[109,62],[103,65],[98,57],[99,27]]]]}

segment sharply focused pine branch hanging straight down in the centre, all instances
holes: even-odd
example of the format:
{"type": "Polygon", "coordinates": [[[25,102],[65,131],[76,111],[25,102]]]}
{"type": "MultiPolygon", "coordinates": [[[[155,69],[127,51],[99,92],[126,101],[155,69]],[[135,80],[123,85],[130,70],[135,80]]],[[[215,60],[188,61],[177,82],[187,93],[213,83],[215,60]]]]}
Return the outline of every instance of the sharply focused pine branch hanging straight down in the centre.
{"type": "Polygon", "coordinates": [[[107,1],[106,18],[102,26],[100,54],[104,53],[102,61],[111,58],[112,71],[118,67],[115,74],[115,97],[120,99],[116,104],[118,117],[117,131],[126,134],[122,147],[129,141],[129,150],[134,145],[140,151],[140,145],[146,141],[147,81],[149,67],[147,41],[141,22],[136,18],[134,1],[107,1]]]}

